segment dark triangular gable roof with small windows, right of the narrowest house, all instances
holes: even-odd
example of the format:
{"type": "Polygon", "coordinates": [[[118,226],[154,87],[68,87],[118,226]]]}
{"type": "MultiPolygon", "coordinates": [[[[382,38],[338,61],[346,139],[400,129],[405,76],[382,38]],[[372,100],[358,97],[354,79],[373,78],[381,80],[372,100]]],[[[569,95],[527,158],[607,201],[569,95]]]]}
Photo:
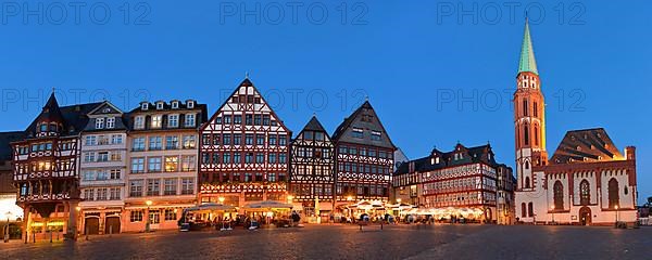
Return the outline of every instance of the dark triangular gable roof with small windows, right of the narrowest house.
{"type": "Polygon", "coordinates": [[[393,145],[391,142],[389,133],[385,130],[385,127],[380,122],[378,115],[374,110],[374,107],[368,100],[358,107],[358,109],[355,109],[351,116],[344,118],[344,121],[337,127],[333,133],[333,141],[338,143],[356,143],[396,150],[396,145],[393,145]],[[365,120],[365,116],[371,116],[372,119],[365,120]],[[364,130],[362,139],[351,136],[351,132],[354,128],[364,130]],[[372,140],[369,135],[371,133],[368,133],[369,131],[379,131],[381,133],[380,141],[372,140]]]}

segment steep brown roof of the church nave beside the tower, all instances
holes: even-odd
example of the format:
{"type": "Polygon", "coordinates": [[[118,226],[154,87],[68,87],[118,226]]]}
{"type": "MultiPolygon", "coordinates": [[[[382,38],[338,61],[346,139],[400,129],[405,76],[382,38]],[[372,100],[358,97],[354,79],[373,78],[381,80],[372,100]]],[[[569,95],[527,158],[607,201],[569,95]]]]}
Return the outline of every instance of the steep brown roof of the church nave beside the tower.
{"type": "Polygon", "coordinates": [[[550,159],[551,165],[623,159],[618,147],[603,128],[566,132],[550,159]]]}

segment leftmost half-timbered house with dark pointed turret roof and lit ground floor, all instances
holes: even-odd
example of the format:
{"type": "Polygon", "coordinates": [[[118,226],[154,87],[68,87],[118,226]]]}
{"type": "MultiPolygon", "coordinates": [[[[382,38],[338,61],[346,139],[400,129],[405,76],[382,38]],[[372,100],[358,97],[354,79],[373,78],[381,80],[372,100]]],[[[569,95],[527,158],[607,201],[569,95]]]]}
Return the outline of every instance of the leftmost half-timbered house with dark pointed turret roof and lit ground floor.
{"type": "Polygon", "coordinates": [[[60,107],[52,93],[25,130],[26,138],[12,143],[17,205],[29,235],[63,232],[76,238],[79,132],[88,121],[86,115],[98,105],[60,107]]]}

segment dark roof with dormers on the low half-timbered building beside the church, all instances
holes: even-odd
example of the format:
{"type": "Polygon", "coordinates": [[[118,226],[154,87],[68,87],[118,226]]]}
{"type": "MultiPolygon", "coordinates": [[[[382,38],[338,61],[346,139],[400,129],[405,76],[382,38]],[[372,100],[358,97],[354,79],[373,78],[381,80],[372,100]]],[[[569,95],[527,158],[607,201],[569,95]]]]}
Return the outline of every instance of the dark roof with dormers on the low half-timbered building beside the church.
{"type": "Polygon", "coordinates": [[[398,167],[394,174],[399,176],[415,171],[426,172],[472,162],[485,162],[492,167],[500,166],[496,162],[490,144],[466,147],[457,143],[451,152],[441,152],[434,148],[429,156],[404,162],[398,167]],[[462,154],[462,158],[457,157],[455,159],[455,154],[462,154]],[[439,160],[436,160],[437,157],[439,157],[439,160]]]}

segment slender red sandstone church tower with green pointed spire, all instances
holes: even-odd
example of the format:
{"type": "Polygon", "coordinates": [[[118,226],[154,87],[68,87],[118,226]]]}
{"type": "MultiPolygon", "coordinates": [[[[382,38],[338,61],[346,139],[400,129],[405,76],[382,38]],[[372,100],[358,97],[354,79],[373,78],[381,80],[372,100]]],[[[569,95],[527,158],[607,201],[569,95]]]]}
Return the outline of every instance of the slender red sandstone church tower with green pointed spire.
{"type": "Polygon", "coordinates": [[[516,135],[517,191],[534,191],[536,178],[532,167],[548,161],[546,152],[546,103],[537,70],[529,24],[525,21],[525,35],[521,49],[516,92],[514,92],[514,131],[516,135]]]}

